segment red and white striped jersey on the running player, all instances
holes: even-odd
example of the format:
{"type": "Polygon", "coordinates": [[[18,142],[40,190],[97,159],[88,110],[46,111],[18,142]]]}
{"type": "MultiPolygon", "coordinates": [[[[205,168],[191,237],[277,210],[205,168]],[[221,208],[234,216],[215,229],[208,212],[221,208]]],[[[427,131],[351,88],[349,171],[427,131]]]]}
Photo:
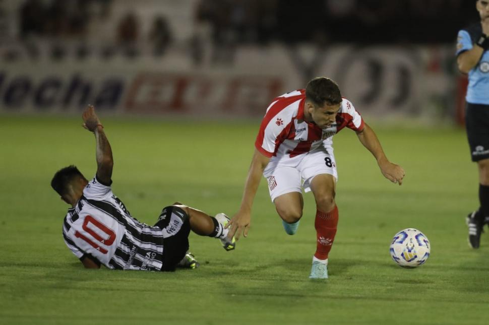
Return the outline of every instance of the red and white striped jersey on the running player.
{"type": "Polygon", "coordinates": [[[361,131],[365,125],[353,104],[343,98],[336,123],[320,128],[304,120],[305,90],[299,89],[274,99],[260,125],[255,147],[265,156],[295,157],[331,145],[332,137],[345,126],[361,131]]]}

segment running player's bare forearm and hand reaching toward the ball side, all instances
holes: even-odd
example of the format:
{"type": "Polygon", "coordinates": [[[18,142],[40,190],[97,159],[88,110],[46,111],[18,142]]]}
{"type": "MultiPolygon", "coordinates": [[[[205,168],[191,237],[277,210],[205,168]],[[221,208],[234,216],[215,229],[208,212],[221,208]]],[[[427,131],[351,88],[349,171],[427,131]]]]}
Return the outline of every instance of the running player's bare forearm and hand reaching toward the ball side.
{"type": "Polygon", "coordinates": [[[374,130],[365,123],[362,131],[357,132],[356,135],[361,144],[374,155],[382,174],[391,182],[401,185],[406,173],[401,166],[393,164],[387,159],[374,130]]]}

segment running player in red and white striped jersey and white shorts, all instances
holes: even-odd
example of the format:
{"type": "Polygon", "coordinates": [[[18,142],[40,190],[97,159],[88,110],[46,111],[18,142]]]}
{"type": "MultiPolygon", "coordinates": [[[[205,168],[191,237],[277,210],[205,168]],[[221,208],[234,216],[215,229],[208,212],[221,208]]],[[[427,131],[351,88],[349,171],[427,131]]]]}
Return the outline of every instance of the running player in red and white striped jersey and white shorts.
{"type": "Polygon", "coordinates": [[[239,211],[227,227],[229,236],[248,235],[251,210],[263,174],[286,233],[297,231],[302,217],[302,188],[316,200],[317,247],[310,278],[328,277],[328,253],[336,234],[338,208],[335,188],[338,174],[332,138],[343,128],[352,129],[377,160],[382,174],[402,184],[404,170],[391,163],[372,128],[353,104],[341,97],[329,78],[311,80],[304,89],[279,96],[270,104],[260,125],[239,211]]]}

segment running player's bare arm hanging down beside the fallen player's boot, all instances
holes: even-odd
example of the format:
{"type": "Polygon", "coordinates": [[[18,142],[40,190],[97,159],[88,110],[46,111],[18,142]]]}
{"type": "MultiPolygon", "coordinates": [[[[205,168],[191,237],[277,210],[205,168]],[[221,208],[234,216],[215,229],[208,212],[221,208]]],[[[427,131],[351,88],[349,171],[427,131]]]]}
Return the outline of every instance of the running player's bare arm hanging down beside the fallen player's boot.
{"type": "Polygon", "coordinates": [[[255,194],[260,185],[263,170],[267,166],[270,158],[264,156],[258,150],[255,149],[255,154],[251,162],[250,170],[248,171],[248,177],[244,184],[244,193],[241,200],[241,207],[239,211],[231,218],[226,228],[230,228],[228,237],[238,240],[241,233],[244,237],[248,236],[248,230],[251,225],[251,209],[253,201],[255,200],[255,194]]]}

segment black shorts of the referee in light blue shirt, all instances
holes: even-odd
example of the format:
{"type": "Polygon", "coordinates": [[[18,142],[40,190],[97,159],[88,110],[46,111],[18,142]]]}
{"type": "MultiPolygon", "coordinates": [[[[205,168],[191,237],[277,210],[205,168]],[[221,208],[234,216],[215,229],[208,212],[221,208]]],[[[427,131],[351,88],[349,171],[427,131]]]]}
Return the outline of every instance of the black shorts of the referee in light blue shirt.
{"type": "Polygon", "coordinates": [[[465,105],[465,128],[472,161],[489,158],[489,105],[465,105]]]}

